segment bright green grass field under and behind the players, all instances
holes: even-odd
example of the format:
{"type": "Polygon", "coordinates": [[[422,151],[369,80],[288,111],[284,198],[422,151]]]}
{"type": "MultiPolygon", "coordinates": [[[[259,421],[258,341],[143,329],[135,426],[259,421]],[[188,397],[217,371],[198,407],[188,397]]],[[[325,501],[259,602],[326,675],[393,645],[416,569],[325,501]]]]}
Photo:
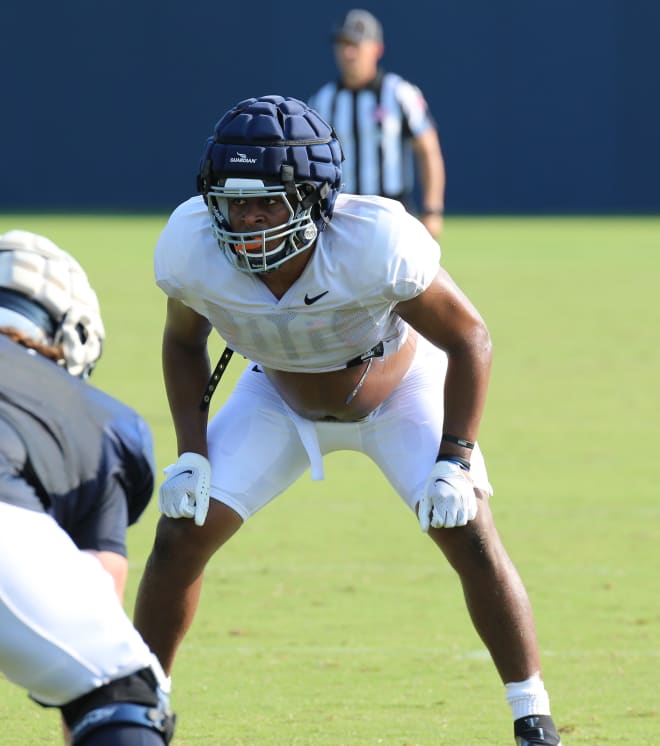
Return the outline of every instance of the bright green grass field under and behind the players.
{"type": "MultiPolygon", "coordinates": [[[[108,339],[92,381],[175,456],[160,375],[164,217],[0,216],[75,254],[108,339]]],[[[565,746],[660,743],[660,219],[447,219],[444,264],[495,347],[480,441],[535,608],[565,746]]],[[[214,342],[220,348],[220,342],[214,342]]],[[[221,404],[239,360],[214,401],[221,404]]],[[[458,582],[366,459],[335,454],[214,558],[174,671],[179,746],[512,743],[458,582]]],[[[126,607],[157,508],[129,531],[126,607]]],[[[0,681],[0,743],[60,743],[0,681]]]]}

